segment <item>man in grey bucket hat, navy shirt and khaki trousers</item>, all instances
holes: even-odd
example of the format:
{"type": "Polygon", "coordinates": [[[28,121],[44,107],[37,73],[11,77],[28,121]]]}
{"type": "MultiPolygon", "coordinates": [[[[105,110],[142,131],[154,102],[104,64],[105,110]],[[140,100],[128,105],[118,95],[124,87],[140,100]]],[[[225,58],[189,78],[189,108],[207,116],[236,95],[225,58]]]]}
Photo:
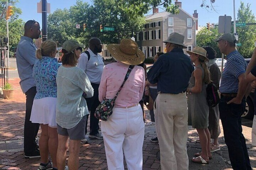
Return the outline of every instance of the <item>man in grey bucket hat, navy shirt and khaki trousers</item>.
{"type": "Polygon", "coordinates": [[[173,32],[164,43],[167,53],[148,73],[148,81],[157,83],[158,90],[154,109],[160,163],[162,170],[188,169],[186,90],[194,66],[184,54],[184,36],[173,32]]]}

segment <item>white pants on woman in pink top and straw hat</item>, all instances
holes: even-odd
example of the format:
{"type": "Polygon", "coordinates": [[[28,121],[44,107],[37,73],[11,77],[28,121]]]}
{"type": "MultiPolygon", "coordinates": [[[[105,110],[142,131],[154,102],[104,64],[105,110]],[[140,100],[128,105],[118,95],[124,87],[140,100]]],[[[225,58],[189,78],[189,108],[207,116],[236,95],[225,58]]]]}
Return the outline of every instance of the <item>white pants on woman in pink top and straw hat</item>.
{"type": "Polygon", "coordinates": [[[123,153],[129,170],[142,169],[142,146],[145,125],[140,105],[115,108],[109,119],[101,121],[107,167],[123,170],[123,153]]]}

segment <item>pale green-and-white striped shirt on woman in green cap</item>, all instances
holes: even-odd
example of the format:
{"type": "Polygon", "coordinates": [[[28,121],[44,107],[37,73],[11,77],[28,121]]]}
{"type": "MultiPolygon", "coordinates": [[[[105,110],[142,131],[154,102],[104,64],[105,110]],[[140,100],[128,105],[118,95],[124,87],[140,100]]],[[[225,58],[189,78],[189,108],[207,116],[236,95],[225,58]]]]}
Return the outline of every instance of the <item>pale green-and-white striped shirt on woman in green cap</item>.
{"type": "Polygon", "coordinates": [[[73,128],[89,114],[83,92],[93,96],[93,88],[85,72],[78,67],[60,66],[57,77],[56,122],[62,128],[73,128]]]}

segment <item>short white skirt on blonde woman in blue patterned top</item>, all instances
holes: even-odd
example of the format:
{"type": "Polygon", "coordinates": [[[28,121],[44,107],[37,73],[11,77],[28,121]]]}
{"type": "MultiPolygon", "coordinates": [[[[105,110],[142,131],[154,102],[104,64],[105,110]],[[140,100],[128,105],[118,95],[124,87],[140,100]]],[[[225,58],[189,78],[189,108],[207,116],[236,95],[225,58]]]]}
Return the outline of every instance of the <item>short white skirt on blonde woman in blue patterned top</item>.
{"type": "Polygon", "coordinates": [[[56,128],[56,104],[57,98],[54,97],[34,99],[30,121],[56,128]]]}

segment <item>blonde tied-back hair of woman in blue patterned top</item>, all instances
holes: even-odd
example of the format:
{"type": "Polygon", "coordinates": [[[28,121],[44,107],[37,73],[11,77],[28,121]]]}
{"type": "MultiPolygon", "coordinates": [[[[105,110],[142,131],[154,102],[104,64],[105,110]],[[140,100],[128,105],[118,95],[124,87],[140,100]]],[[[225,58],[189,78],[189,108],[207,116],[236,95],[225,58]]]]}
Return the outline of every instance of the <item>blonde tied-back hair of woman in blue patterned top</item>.
{"type": "Polygon", "coordinates": [[[53,51],[56,51],[57,44],[54,41],[46,40],[41,44],[41,47],[37,49],[36,56],[41,59],[42,56],[50,56],[53,51]]]}

